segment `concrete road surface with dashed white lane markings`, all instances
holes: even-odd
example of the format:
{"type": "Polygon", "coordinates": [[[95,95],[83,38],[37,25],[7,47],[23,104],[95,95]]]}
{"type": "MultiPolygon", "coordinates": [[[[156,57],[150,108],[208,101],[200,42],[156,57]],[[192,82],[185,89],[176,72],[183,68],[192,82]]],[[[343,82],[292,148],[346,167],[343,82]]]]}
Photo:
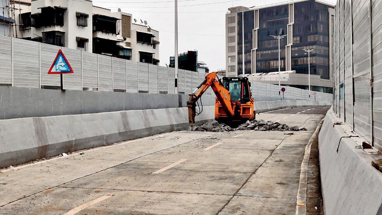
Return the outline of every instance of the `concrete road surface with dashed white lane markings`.
{"type": "Polygon", "coordinates": [[[0,214],[319,214],[306,145],[327,108],[285,110],[257,119],[308,130],[172,132],[2,169],[0,214]]]}

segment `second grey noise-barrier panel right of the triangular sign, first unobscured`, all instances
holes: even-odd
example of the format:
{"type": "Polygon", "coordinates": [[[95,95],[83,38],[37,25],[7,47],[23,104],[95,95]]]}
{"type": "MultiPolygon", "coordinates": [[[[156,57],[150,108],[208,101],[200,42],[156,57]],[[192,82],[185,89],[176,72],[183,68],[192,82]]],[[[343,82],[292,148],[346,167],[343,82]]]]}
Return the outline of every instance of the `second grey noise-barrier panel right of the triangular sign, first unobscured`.
{"type": "Polygon", "coordinates": [[[82,52],[82,86],[84,88],[98,88],[97,54],[82,52]]]}

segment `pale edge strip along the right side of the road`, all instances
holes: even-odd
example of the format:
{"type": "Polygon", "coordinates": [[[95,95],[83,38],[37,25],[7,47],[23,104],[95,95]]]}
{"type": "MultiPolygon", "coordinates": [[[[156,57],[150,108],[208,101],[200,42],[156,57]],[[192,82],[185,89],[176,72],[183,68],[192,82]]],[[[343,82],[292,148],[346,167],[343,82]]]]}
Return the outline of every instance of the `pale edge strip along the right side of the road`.
{"type": "Polygon", "coordinates": [[[309,156],[310,156],[313,140],[318,135],[318,131],[320,130],[320,127],[323,122],[324,122],[324,119],[322,119],[320,124],[316,127],[316,130],[314,131],[312,137],[309,139],[309,142],[305,147],[304,158],[303,158],[303,161],[301,162],[300,179],[299,179],[298,190],[297,190],[296,215],[306,215],[306,190],[308,187],[309,156]]]}

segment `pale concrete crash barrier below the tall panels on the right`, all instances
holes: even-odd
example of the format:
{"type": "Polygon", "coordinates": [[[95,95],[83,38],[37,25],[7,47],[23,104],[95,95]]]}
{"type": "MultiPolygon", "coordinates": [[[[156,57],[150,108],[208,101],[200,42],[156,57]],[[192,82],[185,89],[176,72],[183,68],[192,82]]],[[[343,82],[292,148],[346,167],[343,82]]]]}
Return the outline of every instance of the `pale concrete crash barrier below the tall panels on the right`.
{"type": "Polygon", "coordinates": [[[374,149],[356,149],[363,140],[331,110],[319,134],[322,195],[326,215],[381,215],[382,173],[371,165],[374,149]],[[348,132],[345,132],[348,131],[348,132]],[[341,137],[343,137],[341,139],[341,137]],[[338,153],[337,153],[338,148],[338,153]]]}

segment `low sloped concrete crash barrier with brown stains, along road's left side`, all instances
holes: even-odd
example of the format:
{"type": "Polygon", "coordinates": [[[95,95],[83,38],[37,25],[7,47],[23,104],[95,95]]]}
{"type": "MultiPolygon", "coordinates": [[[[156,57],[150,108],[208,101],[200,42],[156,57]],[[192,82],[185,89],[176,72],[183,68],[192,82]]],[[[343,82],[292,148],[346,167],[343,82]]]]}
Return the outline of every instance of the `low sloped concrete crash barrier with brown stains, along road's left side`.
{"type": "MultiPolygon", "coordinates": [[[[285,105],[325,106],[326,102],[276,101],[255,105],[257,112],[265,112],[286,108],[285,105]]],[[[212,121],[214,111],[215,106],[204,106],[202,114],[195,118],[197,124],[212,121]]],[[[185,129],[188,129],[187,108],[3,119],[0,120],[0,167],[185,129]]]]}

